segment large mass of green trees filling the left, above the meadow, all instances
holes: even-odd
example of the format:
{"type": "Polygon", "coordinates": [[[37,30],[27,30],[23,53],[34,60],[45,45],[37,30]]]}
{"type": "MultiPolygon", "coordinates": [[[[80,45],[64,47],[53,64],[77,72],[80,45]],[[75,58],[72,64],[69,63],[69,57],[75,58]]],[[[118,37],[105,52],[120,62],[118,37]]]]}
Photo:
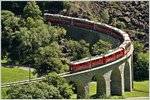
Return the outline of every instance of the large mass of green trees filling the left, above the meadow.
{"type": "Polygon", "coordinates": [[[27,2],[24,18],[18,18],[10,11],[2,11],[2,34],[2,56],[9,56],[12,62],[16,60],[35,66],[39,75],[68,70],[69,66],[59,58],[61,50],[58,45],[66,30],[44,24],[36,2],[27,2]],[[49,52],[49,58],[45,60],[49,52]]]}

